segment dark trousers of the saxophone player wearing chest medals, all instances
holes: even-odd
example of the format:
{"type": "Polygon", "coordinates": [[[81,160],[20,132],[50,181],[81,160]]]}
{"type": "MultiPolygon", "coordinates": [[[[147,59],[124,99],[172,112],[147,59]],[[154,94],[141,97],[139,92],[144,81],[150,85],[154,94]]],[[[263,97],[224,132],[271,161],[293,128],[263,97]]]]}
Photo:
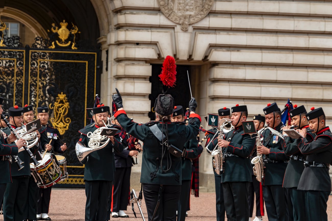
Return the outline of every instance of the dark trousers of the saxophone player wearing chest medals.
{"type": "Polygon", "coordinates": [[[285,188],[282,185],[263,186],[263,195],[269,221],[288,221],[285,188]]]}

